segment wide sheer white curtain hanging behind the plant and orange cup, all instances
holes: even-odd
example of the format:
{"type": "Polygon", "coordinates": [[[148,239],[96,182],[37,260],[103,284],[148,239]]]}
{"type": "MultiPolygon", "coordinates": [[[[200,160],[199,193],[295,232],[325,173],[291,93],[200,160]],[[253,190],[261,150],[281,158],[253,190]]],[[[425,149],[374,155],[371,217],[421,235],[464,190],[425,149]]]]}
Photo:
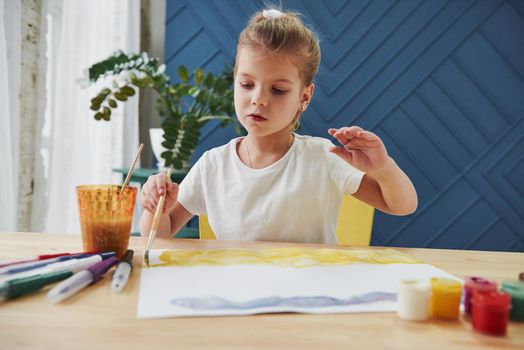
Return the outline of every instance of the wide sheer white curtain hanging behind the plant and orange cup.
{"type": "Polygon", "coordinates": [[[86,89],[77,81],[118,49],[139,51],[140,1],[44,0],[42,11],[46,73],[31,230],[79,234],[75,187],[121,183],[112,168],[129,166],[138,149],[138,98],[120,105],[110,122],[95,121],[90,99],[111,82],[86,89]]]}

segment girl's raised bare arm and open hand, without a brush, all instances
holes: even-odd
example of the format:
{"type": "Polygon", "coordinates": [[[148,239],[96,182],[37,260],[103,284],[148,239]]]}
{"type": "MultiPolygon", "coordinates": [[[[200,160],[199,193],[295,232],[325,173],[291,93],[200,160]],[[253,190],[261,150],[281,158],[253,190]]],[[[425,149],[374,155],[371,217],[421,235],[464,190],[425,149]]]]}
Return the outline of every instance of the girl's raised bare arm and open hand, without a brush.
{"type": "Polygon", "coordinates": [[[413,183],[388,156],[377,135],[357,126],[329,129],[328,132],[343,145],[330,151],[366,173],[354,194],[357,199],[393,215],[407,215],[417,209],[413,183]]]}

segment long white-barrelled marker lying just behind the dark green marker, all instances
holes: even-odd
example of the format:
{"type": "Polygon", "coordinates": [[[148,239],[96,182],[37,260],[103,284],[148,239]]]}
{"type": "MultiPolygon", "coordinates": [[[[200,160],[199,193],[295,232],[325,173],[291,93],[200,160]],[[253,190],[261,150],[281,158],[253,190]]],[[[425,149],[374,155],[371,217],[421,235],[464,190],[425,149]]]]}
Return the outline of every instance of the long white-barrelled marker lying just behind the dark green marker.
{"type": "Polygon", "coordinates": [[[79,259],[75,258],[75,259],[70,259],[66,261],[59,261],[59,262],[51,263],[49,265],[39,267],[36,269],[31,269],[28,271],[0,276],[0,283],[11,281],[17,278],[31,277],[31,276],[41,275],[44,273],[61,271],[61,270],[68,270],[68,271],[75,273],[78,271],[82,271],[88,268],[89,266],[94,265],[97,262],[100,262],[102,260],[108,259],[112,256],[116,256],[116,253],[115,252],[101,253],[101,254],[94,254],[94,255],[84,257],[84,258],[79,258],[79,259]]]}

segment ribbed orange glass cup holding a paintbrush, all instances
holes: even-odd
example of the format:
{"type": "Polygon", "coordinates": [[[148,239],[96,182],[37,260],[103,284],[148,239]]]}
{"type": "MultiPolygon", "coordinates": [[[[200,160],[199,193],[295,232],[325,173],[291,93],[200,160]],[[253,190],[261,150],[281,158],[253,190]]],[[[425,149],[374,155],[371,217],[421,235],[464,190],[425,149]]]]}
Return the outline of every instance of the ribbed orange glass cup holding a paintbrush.
{"type": "Polygon", "coordinates": [[[136,187],[81,185],[76,197],[85,251],[116,252],[122,258],[129,245],[136,187]]]}

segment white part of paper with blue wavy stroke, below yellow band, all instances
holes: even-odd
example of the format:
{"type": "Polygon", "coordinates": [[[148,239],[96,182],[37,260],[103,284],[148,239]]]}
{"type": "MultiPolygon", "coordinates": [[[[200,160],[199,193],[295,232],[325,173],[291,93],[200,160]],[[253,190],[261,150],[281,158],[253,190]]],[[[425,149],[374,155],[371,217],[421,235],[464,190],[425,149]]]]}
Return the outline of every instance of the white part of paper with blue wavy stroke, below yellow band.
{"type": "MultiPolygon", "coordinates": [[[[151,251],[151,261],[161,253],[151,251]]],[[[400,280],[431,277],[456,279],[431,265],[403,263],[151,267],[142,269],[137,317],[394,312],[400,280]]]]}

